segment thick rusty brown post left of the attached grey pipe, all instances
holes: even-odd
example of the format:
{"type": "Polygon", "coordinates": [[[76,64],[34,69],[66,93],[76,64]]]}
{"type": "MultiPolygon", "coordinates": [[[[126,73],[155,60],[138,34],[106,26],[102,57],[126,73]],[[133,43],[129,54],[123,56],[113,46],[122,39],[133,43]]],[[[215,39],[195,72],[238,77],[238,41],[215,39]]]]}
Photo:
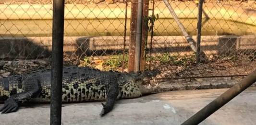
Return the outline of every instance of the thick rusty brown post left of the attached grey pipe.
{"type": "Polygon", "coordinates": [[[129,60],[128,72],[134,71],[134,57],[135,57],[135,41],[136,41],[136,25],[137,25],[137,0],[132,0],[131,18],[130,18],[130,42],[129,42],[129,60]]]}

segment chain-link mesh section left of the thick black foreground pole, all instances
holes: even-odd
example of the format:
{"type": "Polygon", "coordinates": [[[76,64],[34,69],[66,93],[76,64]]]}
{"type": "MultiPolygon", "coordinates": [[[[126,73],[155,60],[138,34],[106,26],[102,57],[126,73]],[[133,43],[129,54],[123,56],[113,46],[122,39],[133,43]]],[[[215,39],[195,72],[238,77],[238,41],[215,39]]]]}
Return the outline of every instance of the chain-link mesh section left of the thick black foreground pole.
{"type": "Polygon", "coordinates": [[[0,77],[49,68],[51,18],[51,2],[0,1],[0,77]]]}

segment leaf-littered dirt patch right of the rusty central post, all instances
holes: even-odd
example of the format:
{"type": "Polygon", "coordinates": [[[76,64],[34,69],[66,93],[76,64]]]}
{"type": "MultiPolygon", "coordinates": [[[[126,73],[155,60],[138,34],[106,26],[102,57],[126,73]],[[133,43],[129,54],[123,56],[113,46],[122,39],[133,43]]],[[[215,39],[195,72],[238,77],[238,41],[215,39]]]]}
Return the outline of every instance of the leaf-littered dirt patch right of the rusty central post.
{"type": "Polygon", "coordinates": [[[157,65],[162,71],[159,78],[189,78],[248,75],[256,68],[256,61],[245,59],[215,59],[204,63],[182,65],[157,65]]]}

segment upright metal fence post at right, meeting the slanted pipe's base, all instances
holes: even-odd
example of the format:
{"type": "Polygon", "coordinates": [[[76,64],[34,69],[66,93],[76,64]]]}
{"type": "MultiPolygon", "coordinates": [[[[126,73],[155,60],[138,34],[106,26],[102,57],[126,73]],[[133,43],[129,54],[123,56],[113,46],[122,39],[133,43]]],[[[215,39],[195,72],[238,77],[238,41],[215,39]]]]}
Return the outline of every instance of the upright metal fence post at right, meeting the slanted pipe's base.
{"type": "Polygon", "coordinates": [[[197,15],[196,64],[200,62],[203,0],[199,0],[197,15]]]}

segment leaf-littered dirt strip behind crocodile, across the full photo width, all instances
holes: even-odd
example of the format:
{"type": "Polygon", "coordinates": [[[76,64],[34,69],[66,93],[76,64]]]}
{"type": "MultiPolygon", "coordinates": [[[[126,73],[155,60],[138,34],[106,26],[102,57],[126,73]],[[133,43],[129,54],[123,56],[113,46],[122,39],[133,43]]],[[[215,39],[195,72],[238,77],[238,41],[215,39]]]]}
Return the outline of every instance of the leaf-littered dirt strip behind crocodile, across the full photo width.
{"type": "MultiPolygon", "coordinates": [[[[64,57],[64,66],[85,66],[84,60],[76,58],[64,57]]],[[[104,60],[92,60],[87,66],[98,68],[100,70],[118,70],[122,71],[122,67],[111,67],[102,65],[104,60]]],[[[161,64],[154,61],[151,68],[158,68],[161,74],[157,79],[166,78],[187,78],[187,77],[212,77],[212,76],[237,76],[248,75],[256,68],[256,60],[248,60],[239,57],[232,58],[215,58],[207,62],[195,64],[195,62],[184,62],[183,64],[161,64]]],[[[126,63],[127,65],[127,63],[126,63]]],[[[147,65],[148,67],[148,65],[147,65]]],[[[50,68],[48,59],[37,60],[17,60],[17,61],[0,61],[0,77],[10,76],[12,74],[24,74],[38,69],[50,68]]],[[[124,67],[124,71],[127,68],[124,67]]]]}

